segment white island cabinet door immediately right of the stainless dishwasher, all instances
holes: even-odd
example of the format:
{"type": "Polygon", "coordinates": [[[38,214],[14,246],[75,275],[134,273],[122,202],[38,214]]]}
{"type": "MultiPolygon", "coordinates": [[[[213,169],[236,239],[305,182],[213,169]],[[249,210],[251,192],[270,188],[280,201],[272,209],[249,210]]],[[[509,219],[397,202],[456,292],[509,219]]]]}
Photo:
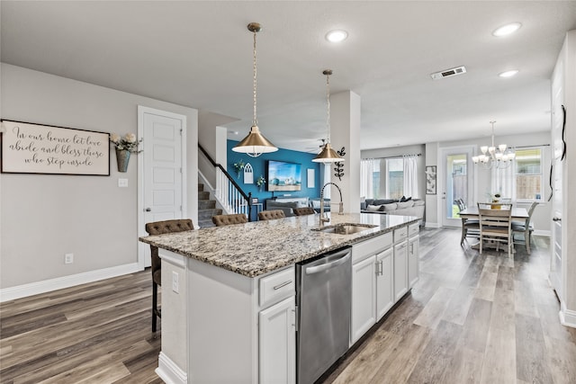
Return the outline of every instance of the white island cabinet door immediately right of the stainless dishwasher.
{"type": "Polygon", "coordinates": [[[376,256],[352,265],[352,324],[350,345],[376,324],[376,256]]]}

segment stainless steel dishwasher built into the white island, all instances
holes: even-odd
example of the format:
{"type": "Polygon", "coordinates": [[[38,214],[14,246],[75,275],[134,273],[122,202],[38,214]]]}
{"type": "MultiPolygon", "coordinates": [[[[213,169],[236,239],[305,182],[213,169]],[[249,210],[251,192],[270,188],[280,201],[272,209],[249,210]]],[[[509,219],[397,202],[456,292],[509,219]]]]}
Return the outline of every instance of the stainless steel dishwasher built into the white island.
{"type": "Polygon", "coordinates": [[[347,352],[352,299],[352,248],[296,264],[296,375],[311,384],[347,352]]]}

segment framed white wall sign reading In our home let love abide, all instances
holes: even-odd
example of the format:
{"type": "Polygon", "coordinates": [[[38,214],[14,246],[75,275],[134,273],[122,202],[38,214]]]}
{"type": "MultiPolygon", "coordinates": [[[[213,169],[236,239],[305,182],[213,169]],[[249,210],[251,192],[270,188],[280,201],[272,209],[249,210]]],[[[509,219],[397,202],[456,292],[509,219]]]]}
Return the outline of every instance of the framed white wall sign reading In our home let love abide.
{"type": "Polygon", "coordinates": [[[3,120],[3,174],[110,175],[110,134],[3,120]]]}

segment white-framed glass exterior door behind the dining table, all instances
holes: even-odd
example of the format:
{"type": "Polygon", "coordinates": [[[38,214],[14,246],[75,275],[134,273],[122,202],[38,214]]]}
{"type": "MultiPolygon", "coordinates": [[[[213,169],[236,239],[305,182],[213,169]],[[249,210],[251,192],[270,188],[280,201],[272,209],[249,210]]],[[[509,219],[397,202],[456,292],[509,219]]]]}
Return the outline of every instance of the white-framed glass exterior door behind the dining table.
{"type": "Polygon", "coordinates": [[[460,227],[456,199],[466,205],[473,204],[473,147],[454,147],[442,150],[442,169],[437,174],[442,182],[437,183],[440,193],[440,217],[444,227],[460,227]]]}

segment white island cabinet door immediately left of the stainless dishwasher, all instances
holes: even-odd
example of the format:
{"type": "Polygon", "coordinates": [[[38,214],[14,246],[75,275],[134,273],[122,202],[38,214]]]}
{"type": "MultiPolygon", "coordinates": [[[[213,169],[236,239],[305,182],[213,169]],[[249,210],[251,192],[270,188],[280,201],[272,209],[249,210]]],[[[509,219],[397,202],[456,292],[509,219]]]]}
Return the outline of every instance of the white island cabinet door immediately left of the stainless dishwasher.
{"type": "Polygon", "coordinates": [[[294,297],[260,311],[261,383],[293,384],[296,378],[294,297]]]}

